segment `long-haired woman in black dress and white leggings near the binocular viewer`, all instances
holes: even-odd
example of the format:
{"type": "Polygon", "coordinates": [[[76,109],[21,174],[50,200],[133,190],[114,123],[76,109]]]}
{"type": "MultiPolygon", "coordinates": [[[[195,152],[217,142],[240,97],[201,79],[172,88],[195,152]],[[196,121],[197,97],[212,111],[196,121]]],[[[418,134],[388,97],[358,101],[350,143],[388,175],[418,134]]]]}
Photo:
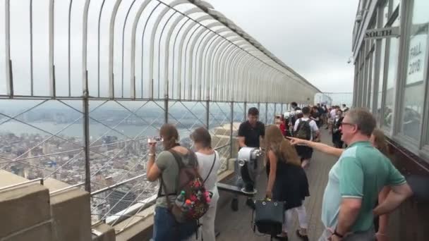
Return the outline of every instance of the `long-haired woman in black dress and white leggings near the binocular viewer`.
{"type": "Polygon", "coordinates": [[[310,196],[306,173],[301,168],[301,160],[296,150],[286,140],[276,125],[270,125],[265,130],[267,147],[267,197],[286,202],[284,213],[283,233],[277,236],[287,240],[288,227],[291,226],[294,210],[298,213],[300,229],[296,230],[298,237],[308,240],[307,214],[303,201],[310,196]]]}

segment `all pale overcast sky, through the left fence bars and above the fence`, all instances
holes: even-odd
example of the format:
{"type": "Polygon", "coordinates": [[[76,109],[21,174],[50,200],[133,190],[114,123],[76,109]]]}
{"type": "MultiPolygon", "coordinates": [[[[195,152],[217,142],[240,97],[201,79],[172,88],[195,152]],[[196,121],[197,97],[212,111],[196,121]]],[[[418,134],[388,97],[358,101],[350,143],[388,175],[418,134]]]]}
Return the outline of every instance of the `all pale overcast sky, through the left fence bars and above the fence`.
{"type": "MultiPolygon", "coordinates": [[[[138,6],[144,0],[123,0],[119,7],[114,32],[114,89],[115,97],[130,97],[131,94],[131,20],[138,12],[138,6]],[[135,4],[135,5],[133,5],[135,4]],[[127,9],[131,9],[130,18],[122,35],[127,9]],[[122,36],[125,36],[122,39],[122,36]],[[122,43],[124,44],[122,46],[122,43]],[[123,52],[122,52],[123,50],[123,52]],[[122,54],[123,53],[123,54],[122,54]],[[122,62],[123,57],[123,62],[122,62]],[[122,65],[124,68],[122,68],[122,65]]],[[[163,0],[170,3],[173,0],[163,0]]],[[[351,56],[351,32],[358,0],[207,0],[217,11],[223,13],[236,25],[253,36],[266,49],[280,58],[296,72],[303,75],[323,92],[351,92],[354,66],[346,63],[351,56]]],[[[4,2],[0,1],[0,16],[4,16],[4,2]]],[[[49,94],[49,35],[48,16],[49,1],[33,1],[33,70],[34,94],[49,94]]],[[[85,0],[73,1],[71,11],[71,85],[72,96],[82,94],[82,19],[85,0]]],[[[109,20],[115,1],[105,1],[104,10],[100,18],[100,73],[97,74],[97,27],[102,0],[90,1],[87,23],[87,70],[90,95],[95,96],[97,89],[101,96],[108,96],[108,49],[109,49],[109,20]],[[97,78],[100,82],[98,85],[97,78]]],[[[68,95],[68,4],[70,1],[56,1],[54,8],[54,66],[56,94],[68,95]]],[[[158,1],[151,1],[143,17],[138,22],[135,41],[142,42],[142,32],[152,9],[157,16],[165,6],[158,6],[158,1]]],[[[189,9],[191,4],[178,6],[179,11],[189,9]],[[183,6],[185,5],[185,6],[183,6]]],[[[11,1],[11,60],[13,63],[13,85],[15,94],[30,94],[30,1],[11,1]]],[[[173,13],[172,11],[169,14],[173,13]]],[[[197,18],[203,13],[193,13],[197,18]]],[[[148,46],[152,22],[151,18],[145,32],[145,58],[149,56],[148,46]]],[[[167,21],[163,18],[161,25],[167,21]]],[[[213,21],[213,20],[210,20],[213,21]]],[[[171,21],[172,22],[172,21],[171,21]]],[[[184,22],[184,21],[183,21],[184,22]]],[[[209,22],[205,22],[207,25],[209,22]]],[[[190,23],[188,23],[190,24],[190,23]]],[[[198,26],[195,26],[198,27],[198,26]]],[[[217,27],[219,28],[219,26],[217,27]]],[[[179,28],[176,28],[179,29],[179,28]]],[[[159,32],[159,31],[158,31],[159,32]]],[[[0,36],[4,33],[4,18],[0,18],[0,36]]],[[[0,37],[0,73],[5,73],[4,38],[0,37]]],[[[140,86],[149,85],[151,77],[148,75],[150,61],[144,61],[145,66],[140,68],[142,44],[136,44],[136,95],[141,96],[140,86]],[[141,54],[140,54],[141,55],[141,54]],[[140,70],[145,73],[140,74],[140,70]],[[143,77],[142,77],[143,76],[143,77]],[[148,78],[149,77],[149,78],[148,78]],[[139,86],[140,85],[140,86],[139,86]]],[[[159,51],[160,58],[164,51],[159,51]]],[[[155,54],[155,70],[157,68],[155,54]]],[[[177,68],[176,68],[177,70],[177,68]]],[[[154,80],[164,81],[163,71],[156,71],[154,80]]],[[[155,92],[157,87],[154,85],[155,92]]],[[[160,88],[163,90],[163,88],[160,88]]],[[[0,75],[0,94],[6,92],[6,78],[0,75]]],[[[145,94],[148,93],[146,88],[145,94]]],[[[163,96],[162,92],[159,96],[163,96]]]]}

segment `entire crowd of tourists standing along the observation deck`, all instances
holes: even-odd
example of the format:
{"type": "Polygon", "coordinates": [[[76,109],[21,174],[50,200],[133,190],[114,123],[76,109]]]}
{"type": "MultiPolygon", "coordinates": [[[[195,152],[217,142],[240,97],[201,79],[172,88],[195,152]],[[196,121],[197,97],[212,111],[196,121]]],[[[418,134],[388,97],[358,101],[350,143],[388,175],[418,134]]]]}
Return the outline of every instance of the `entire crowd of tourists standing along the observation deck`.
{"type": "MultiPolygon", "coordinates": [[[[286,204],[282,233],[275,238],[288,239],[296,213],[299,228],[294,233],[302,240],[309,240],[310,235],[320,236],[319,240],[388,240],[387,214],[412,191],[389,161],[385,137],[375,129],[373,115],[344,104],[301,109],[293,102],[289,111],[276,118],[276,124],[260,122],[259,111],[253,107],[237,136],[239,148],[265,149],[265,197],[286,204]],[[322,128],[329,130],[332,144],[320,142],[322,128]],[[321,234],[308,233],[304,206],[310,196],[306,170],[313,150],[339,158],[322,199],[325,230],[321,234]]],[[[157,142],[150,142],[147,163],[147,180],[160,183],[152,240],[215,240],[220,164],[210,133],[196,129],[191,134],[193,150],[181,147],[174,125],[163,125],[159,135],[164,151],[157,154],[157,142]]],[[[247,175],[246,168],[241,168],[241,175],[247,175]]],[[[253,199],[247,204],[254,209],[253,199]]]]}

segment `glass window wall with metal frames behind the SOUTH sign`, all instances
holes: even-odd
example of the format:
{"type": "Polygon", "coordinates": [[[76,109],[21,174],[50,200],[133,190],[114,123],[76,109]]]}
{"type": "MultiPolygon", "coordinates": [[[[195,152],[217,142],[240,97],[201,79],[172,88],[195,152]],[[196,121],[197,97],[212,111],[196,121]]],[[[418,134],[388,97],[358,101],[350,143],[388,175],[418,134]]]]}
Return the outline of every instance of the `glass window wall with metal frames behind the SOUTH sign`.
{"type": "Polygon", "coordinates": [[[429,162],[429,1],[361,1],[354,28],[354,106],[377,116],[387,137],[429,162]],[[360,18],[360,17],[359,17],[360,18]],[[365,31],[399,27],[399,37],[365,31]]]}

